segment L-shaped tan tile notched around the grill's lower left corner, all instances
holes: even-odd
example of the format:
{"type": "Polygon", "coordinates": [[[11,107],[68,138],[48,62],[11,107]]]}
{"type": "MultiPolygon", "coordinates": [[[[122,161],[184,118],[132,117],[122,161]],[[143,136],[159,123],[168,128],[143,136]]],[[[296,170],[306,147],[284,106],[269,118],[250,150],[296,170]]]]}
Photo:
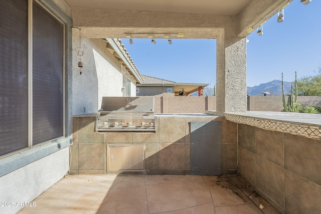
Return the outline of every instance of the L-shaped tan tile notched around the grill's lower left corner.
{"type": "Polygon", "coordinates": [[[79,143],[104,143],[105,134],[95,131],[95,117],[79,117],[78,142],[79,143]]]}

